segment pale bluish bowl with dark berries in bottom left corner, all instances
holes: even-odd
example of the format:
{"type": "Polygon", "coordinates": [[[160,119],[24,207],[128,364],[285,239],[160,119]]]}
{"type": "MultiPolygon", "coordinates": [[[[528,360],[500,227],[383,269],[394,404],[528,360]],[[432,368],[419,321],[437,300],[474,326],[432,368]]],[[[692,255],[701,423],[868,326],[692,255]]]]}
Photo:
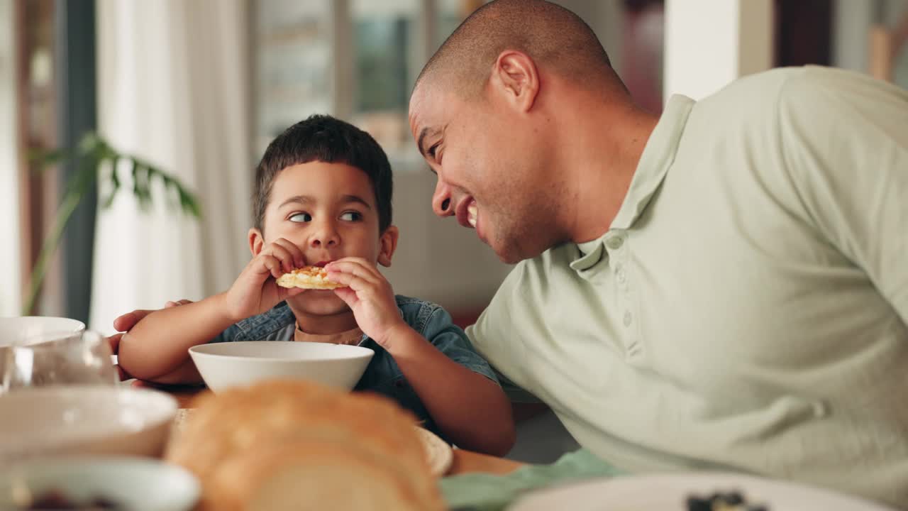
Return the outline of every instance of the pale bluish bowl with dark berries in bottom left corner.
{"type": "Polygon", "coordinates": [[[189,511],[201,494],[198,479],[183,467],[133,457],[41,459],[8,467],[0,473],[0,509],[17,509],[24,490],[35,499],[59,492],[73,504],[101,497],[133,511],[189,511]]]}

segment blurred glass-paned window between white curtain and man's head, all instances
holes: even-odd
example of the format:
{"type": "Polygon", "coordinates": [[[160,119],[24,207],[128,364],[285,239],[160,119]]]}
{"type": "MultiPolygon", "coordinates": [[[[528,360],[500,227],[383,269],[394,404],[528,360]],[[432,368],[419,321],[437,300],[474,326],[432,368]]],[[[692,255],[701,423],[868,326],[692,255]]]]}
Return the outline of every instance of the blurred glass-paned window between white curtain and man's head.
{"type": "Polygon", "coordinates": [[[410,87],[475,0],[258,0],[257,149],[316,113],[360,126],[396,171],[421,169],[410,87]],[[429,42],[429,43],[427,43],[429,42]]]}

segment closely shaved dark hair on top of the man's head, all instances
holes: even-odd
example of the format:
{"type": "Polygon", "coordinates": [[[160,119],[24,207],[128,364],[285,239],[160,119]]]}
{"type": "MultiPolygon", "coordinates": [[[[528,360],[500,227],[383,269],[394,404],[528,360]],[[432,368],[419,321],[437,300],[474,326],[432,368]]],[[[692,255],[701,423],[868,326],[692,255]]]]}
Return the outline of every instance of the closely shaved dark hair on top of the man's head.
{"type": "Polygon", "coordinates": [[[577,85],[620,84],[606,50],[579,16],[544,0],[496,0],[460,24],[423,67],[415,87],[440,78],[459,95],[474,97],[505,50],[527,54],[577,85]]]}

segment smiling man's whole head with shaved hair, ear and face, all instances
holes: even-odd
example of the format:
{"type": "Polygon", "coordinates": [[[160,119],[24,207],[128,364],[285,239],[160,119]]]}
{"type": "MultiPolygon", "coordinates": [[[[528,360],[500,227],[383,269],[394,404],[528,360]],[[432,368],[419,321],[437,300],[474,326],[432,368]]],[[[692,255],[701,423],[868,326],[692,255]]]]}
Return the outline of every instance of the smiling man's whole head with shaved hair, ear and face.
{"type": "Polygon", "coordinates": [[[516,263],[573,239],[577,183],[615,159],[603,126],[637,123],[636,111],[577,15],[543,0],[496,0],[423,68],[409,117],[438,175],[435,214],[457,217],[516,263]]]}

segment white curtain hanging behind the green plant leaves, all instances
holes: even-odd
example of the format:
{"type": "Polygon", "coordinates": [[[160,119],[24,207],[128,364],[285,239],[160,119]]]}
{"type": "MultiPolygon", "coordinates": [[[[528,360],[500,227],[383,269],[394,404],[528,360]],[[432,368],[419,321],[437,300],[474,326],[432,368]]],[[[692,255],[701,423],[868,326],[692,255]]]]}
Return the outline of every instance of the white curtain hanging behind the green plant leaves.
{"type": "Polygon", "coordinates": [[[112,332],[114,317],[134,308],[220,292],[248,261],[249,9],[245,0],[97,3],[99,130],[181,179],[203,216],[163,201],[143,213],[122,192],[99,212],[92,328],[112,332]]]}

